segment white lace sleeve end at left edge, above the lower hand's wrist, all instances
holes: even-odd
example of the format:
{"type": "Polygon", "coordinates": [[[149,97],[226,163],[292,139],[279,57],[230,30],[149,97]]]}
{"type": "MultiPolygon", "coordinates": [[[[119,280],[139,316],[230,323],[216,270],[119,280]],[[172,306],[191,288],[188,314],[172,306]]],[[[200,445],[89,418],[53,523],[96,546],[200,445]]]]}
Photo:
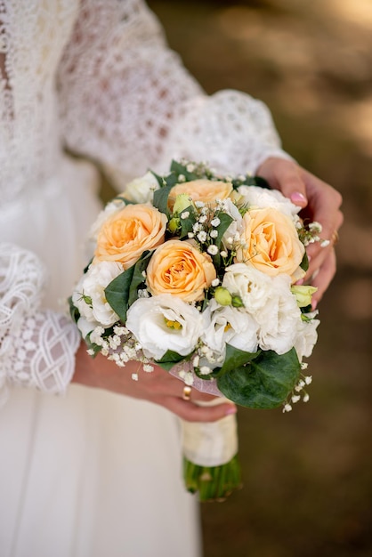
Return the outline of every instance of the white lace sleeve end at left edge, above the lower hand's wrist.
{"type": "Polygon", "coordinates": [[[66,390],[79,335],[62,314],[40,311],[44,269],[34,254],[0,244],[0,405],[8,384],[66,390]]]}

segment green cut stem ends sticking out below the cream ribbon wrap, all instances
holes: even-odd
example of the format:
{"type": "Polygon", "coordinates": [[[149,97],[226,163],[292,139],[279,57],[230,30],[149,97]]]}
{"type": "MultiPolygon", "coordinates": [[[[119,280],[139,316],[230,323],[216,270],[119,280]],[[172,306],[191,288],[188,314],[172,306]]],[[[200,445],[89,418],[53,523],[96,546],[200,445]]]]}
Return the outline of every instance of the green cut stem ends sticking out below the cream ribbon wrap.
{"type": "Polygon", "coordinates": [[[224,501],[235,489],[241,488],[239,457],[226,464],[201,466],[183,458],[183,480],[190,493],[197,493],[200,501],[224,501]]]}

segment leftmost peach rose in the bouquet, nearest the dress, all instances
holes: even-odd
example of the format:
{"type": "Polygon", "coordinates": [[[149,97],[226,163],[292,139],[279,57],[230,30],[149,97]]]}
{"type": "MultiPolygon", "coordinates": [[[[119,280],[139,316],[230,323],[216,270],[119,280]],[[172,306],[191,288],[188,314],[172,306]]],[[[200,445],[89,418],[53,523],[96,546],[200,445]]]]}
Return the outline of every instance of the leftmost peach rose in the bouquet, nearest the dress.
{"type": "Polygon", "coordinates": [[[95,261],[116,261],[131,267],[147,249],[164,242],[166,214],[150,205],[127,205],[103,223],[95,261]]]}

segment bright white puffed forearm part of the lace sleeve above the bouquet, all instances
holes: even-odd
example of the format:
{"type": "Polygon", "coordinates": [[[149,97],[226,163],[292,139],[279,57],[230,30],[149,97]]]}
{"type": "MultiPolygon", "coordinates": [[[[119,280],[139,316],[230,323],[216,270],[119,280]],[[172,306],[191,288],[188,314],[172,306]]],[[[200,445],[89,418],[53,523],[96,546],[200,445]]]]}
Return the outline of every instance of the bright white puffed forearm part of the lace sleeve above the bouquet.
{"type": "Polygon", "coordinates": [[[223,174],[255,174],[267,157],[290,158],[266,105],[230,90],[184,106],[165,147],[164,158],[171,155],[206,161],[223,174]]]}

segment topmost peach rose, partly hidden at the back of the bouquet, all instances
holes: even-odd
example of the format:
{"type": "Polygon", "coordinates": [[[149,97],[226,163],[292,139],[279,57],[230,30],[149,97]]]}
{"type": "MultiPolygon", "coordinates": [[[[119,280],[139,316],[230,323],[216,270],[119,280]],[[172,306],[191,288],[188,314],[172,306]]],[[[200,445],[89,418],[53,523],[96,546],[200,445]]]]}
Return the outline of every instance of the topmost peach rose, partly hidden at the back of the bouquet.
{"type": "Polygon", "coordinates": [[[232,192],[230,182],[214,182],[213,180],[193,180],[176,184],[172,188],[168,198],[168,206],[172,210],[176,196],[187,193],[193,201],[203,201],[207,205],[214,206],[216,199],[229,198],[232,192]]]}

